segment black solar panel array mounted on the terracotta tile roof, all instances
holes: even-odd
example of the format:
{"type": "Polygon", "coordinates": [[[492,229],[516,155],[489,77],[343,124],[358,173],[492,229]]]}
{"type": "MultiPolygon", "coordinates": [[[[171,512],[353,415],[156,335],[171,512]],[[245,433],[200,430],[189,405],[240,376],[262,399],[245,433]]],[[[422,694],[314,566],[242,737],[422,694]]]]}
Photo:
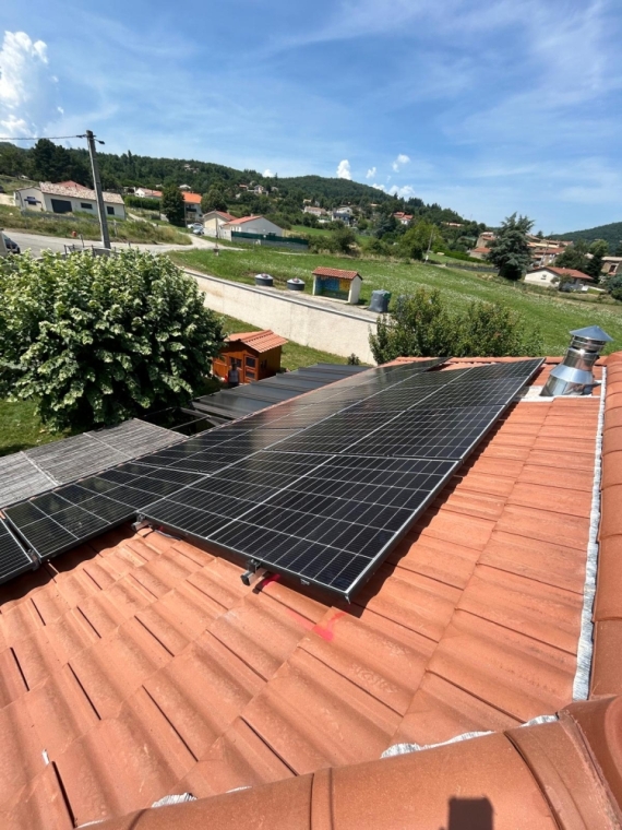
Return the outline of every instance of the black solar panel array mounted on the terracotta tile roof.
{"type": "Polygon", "coordinates": [[[381,367],[7,510],[43,559],[140,513],[350,598],[541,365],[381,367]]]}

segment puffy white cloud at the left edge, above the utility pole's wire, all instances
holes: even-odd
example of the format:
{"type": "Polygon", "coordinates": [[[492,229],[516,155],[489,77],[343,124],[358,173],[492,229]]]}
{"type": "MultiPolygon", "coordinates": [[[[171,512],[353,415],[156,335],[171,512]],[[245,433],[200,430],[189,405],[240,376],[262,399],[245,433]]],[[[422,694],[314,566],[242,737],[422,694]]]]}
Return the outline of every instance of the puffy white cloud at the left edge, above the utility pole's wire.
{"type": "Polygon", "coordinates": [[[36,135],[58,118],[57,79],[47,45],[25,32],[5,32],[0,48],[0,131],[36,135]]]}

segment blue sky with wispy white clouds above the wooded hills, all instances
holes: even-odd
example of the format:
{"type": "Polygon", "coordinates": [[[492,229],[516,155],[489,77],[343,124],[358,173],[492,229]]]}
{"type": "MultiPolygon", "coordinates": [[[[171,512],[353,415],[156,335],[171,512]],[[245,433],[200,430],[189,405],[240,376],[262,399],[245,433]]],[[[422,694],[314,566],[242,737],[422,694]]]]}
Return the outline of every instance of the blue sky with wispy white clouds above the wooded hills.
{"type": "Polygon", "coordinates": [[[622,221],[619,0],[3,0],[0,134],[622,221]]]}

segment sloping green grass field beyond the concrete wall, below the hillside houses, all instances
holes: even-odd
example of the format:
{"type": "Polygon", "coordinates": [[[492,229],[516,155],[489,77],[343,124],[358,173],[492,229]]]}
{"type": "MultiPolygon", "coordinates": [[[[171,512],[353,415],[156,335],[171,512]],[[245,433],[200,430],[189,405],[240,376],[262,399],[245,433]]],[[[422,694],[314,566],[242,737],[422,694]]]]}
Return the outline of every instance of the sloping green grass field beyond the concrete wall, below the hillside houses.
{"type": "Polygon", "coordinates": [[[436,268],[422,263],[403,263],[382,260],[351,259],[331,254],[286,253],[267,248],[227,251],[214,257],[210,251],[176,251],[174,260],[186,268],[203,271],[215,276],[253,284],[259,273],[275,277],[278,287],[285,287],[289,277],[306,281],[306,292],[312,290],[312,271],[318,265],[357,269],[363,277],[361,299],[368,303],[371,292],[384,288],[393,296],[408,294],[418,286],[440,288],[445,299],[456,309],[473,300],[486,300],[511,306],[521,312],[528,324],[540,329],[548,355],[563,354],[569,344],[569,331],[584,325],[597,324],[613,339],[607,352],[622,348],[622,305],[600,306],[582,303],[554,294],[546,296],[529,293],[519,285],[501,283],[490,275],[471,274],[451,268],[436,268]]]}

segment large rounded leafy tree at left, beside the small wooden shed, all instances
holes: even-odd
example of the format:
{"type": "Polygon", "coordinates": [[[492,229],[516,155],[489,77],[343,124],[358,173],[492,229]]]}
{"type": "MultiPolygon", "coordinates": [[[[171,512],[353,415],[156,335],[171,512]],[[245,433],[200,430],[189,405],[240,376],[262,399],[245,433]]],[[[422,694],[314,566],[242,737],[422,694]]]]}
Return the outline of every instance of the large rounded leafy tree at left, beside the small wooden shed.
{"type": "Polygon", "coordinates": [[[223,343],[194,280],[167,257],[44,252],[0,264],[0,391],[53,429],[187,404],[223,343]]]}

